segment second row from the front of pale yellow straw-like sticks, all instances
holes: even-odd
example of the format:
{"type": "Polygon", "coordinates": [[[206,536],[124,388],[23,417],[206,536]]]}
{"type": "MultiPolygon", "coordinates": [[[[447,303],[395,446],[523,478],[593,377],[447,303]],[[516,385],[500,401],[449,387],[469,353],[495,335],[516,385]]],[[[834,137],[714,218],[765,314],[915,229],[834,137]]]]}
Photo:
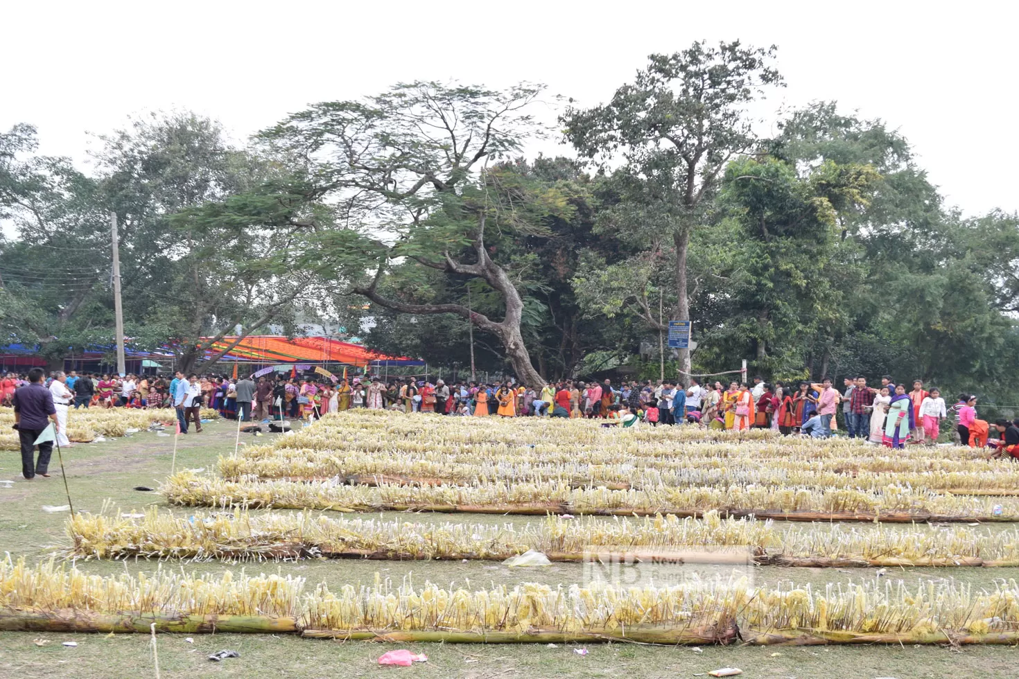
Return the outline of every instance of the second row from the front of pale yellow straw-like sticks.
{"type": "MultiPolygon", "coordinates": [[[[642,520],[566,521],[549,517],[515,526],[336,519],[320,514],[254,514],[243,510],[192,517],[155,508],[142,518],[119,512],[76,514],[67,522],[68,555],[110,558],[477,559],[502,561],[529,549],[552,561],[580,561],[599,548],[631,558],[662,550],[743,548],[759,564],[785,566],[1019,566],[1019,530],[967,526],[881,526],[858,530],[814,523],[779,529],[770,520],[657,515],[642,520]]],[[[728,553],[727,553],[728,554],[728,553]]],[[[736,554],[732,552],[732,554],[736,554]]],[[[619,555],[618,555],[619,556],[619,555]]]]}

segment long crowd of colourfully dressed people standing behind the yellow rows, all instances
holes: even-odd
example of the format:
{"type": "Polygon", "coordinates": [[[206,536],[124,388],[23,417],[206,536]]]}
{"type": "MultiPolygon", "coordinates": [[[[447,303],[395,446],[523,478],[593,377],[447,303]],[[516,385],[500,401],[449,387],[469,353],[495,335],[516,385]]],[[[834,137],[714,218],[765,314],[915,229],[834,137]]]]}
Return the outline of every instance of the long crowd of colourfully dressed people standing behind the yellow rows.
{"type": "MultiPolygon", "coordinates": [[[[0,404],[10,405],[15,390],[26,384],[28,376],[0,376],[0,404]]],[[[910,389],[896,384],[891,376],[883,376],[880,386],[869,386],[862,376],[846,378],[840,391],[827,379],[786,385],[754,378],[752,384],[732,381],[728,387],[697,378],[689,384],[565,380],[531,387],[514,381],[445,384],[437,380],[433,384],[416,378],[384,382],[378,377],[325,380],[317,375],[231,379],[179,372],[172,378],[120,378],[72,371],[51,374],[44,386],[56,405],[61,445],[66,444],[70,408],[175,408],[180,431],[186,433],[192,425],[202,431],[202,407],[244,421],[314,419],[327,412],[364,407],[445,415],[586,417],[602,419],[606,427],[771,429],[811,438],[828,438],[842,428],[849,439],[890,448],[903,448],[907,443],[933,445],[942,437],[943,423],[951,419],[962,445],[990,445],[997,448],[996,454],[1019,456],[1019,419],[999,419],[991,426],[977,416],[976,397],[971,394],[961,394],[948,406],[936,388],[927,390],[917,380],[910,389]]],[[[953,432],[949,434],[956,440],[953,432]]]]}

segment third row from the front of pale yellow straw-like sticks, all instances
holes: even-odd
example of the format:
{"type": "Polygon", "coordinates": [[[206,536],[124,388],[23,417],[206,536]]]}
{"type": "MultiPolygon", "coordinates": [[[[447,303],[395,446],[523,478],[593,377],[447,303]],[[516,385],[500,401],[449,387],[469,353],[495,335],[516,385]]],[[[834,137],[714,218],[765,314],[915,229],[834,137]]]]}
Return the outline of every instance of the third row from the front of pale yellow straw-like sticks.
{"type": "Polygon", "coordinates": [[[331,483],[227,482],[183,471],[161,489],[171,504],[335,511],[443,511],[511,514],[679,514],[845,521],[1015,521],[1019,500],[996,503],[888,486],[878,491],[792,488],[571,488],[554,482],[376,487],[331,483]],[[996,506],[997,505],[997,506],[996,506]]]}

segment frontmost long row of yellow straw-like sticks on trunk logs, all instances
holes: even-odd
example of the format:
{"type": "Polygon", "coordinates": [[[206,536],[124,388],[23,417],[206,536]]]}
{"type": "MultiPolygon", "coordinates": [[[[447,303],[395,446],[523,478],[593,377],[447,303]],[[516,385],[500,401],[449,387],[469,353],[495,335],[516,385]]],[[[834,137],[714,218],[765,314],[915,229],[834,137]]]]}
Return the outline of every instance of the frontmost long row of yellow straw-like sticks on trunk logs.
{"type": "Polygon", "coordinates": [[[451,589],[318,586],[300,578],[90,576],[52,562],[0,562],[0,629],[301,632],[389,641],[650,643],[1014,643],[1019,585],[974,591],[950,582],[752,588],[745,579],[672,586],[451,589]],[[742,631],[742,634],[741,634],[742,631]]]}

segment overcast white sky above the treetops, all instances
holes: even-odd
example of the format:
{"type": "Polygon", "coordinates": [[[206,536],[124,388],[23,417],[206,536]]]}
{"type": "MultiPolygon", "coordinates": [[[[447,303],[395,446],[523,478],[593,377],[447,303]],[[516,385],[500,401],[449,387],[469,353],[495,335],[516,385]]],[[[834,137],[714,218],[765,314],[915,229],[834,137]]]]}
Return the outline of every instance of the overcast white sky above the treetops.
{"type": "MultiPolygon", "coordinates": [[[[0,127],[84,159],[87,132],[193,109],[237,137],[399,80],[545,82],[605,101],[652,52],[776,44],[769,110],[838,100],[899,128],[948,202],[1019,209],[1013,2],[6,2],[0,127]]],[[[551,117],[551,115],[550,115],[551,117]]]]}

